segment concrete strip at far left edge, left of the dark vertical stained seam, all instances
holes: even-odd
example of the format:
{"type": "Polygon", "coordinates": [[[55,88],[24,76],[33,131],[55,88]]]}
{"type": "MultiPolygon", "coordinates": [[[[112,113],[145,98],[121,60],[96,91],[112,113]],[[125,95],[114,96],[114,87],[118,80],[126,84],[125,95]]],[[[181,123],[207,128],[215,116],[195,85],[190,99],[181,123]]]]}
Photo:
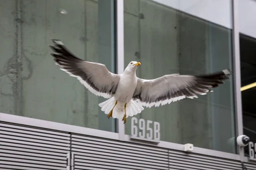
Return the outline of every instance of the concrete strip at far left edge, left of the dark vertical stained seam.
{"type": "Polygon", "coordinates": [[[17,56],[15,2],[3,0],[0,3],[0,111],[10,114],[17,114],[15,103],[19,96],[16,90],[18,79],[15,62],[17,60],[14,59],[17,56]]]}

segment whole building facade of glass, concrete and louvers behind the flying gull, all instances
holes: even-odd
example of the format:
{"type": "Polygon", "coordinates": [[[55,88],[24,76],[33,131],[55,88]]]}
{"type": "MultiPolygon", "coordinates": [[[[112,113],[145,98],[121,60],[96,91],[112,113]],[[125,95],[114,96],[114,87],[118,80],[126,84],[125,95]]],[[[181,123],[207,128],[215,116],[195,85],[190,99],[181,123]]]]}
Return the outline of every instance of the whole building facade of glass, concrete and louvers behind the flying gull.
{"type": "Polygon", "coordinates": [[[254,16],[256,0],[0,0],[0,169],[256,170],[254,16]],[[118,74],[140,61],[143,79],[233,74],[123,124],[59,70],[51,38],[118,74]]]}

